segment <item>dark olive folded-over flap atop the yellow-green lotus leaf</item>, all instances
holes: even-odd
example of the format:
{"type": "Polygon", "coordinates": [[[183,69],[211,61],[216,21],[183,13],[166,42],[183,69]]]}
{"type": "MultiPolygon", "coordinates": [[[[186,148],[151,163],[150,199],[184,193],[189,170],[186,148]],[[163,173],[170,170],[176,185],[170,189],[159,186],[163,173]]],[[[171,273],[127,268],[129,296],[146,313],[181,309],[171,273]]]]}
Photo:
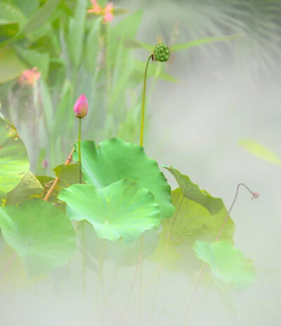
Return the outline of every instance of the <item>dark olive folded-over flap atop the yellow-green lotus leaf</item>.
{"type": "Polygon", "coordinates": [[[182,175],[172,166],[171,168],[164,166],[164,168],[169,170],[171,174],[174,175],[178,185],[181,187],[183,196],[185,196],[187,199],[200,203],[200,205],[207,208],[211,214],[216,214],[222,210],[224,205],[221,198],[212,197],[206,192],[206,190],[201,190],[200,187],[193,183],[187,175],[182,175]]]}

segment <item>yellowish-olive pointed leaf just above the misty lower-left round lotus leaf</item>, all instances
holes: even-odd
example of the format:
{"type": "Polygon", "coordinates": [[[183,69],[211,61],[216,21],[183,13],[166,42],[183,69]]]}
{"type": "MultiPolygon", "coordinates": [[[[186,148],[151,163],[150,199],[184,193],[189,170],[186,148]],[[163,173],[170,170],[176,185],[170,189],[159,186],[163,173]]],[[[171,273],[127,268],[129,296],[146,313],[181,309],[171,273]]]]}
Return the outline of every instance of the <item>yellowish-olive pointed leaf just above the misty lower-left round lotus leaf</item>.
{"type": "Polygon", "coordinates": [[[6,195],[5,206],[22,203],[23,201],[27,201],[27,199],[40,197],[42,194],[43,187],[40,182],[37,180],[35,175],[28,171],[22,177],[20,183],[6,195]]]}

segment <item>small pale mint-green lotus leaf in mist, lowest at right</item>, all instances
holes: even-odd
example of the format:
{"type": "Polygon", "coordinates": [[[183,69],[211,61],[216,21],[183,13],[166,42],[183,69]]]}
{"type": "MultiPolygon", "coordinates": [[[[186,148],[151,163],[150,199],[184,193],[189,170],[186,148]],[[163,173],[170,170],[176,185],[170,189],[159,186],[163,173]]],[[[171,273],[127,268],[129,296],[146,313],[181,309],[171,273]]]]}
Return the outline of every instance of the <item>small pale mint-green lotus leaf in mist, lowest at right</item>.
{"type": "Polygon", "coordinates": [[[211,271],[218,280],[234,284],[235,289],[249,287],[255,280],[253,261],[243,256],[226,240],[208,243],[197,241],[194,245],[197,258],[209,264],[211,271]]]}

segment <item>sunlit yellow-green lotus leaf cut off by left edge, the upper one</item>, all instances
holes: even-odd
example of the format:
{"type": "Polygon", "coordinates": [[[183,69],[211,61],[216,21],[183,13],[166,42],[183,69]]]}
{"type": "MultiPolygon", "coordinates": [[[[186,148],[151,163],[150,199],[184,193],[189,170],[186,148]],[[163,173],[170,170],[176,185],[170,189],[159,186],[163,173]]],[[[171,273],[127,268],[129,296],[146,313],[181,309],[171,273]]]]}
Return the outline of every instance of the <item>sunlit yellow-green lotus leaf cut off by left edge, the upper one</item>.
{"type": "Polygon", "coordinates": [[[0,118],[0,200],[20,182],[30,169],[27,151],[15,127],[0,118]]]}

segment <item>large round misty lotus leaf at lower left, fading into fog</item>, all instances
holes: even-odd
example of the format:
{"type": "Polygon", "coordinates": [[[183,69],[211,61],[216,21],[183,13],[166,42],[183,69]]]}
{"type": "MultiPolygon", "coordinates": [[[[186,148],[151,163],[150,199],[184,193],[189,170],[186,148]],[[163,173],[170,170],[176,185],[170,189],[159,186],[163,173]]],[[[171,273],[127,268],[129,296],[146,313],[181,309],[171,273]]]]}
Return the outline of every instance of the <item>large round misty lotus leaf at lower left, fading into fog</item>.
{"type": "Polygon", "coordinates": [[[0,208],[0,227],[4,239],[17,251],[30,276],[66,263],[75,250],[75,233],[70,220],[41,199],[0,208]]]}

